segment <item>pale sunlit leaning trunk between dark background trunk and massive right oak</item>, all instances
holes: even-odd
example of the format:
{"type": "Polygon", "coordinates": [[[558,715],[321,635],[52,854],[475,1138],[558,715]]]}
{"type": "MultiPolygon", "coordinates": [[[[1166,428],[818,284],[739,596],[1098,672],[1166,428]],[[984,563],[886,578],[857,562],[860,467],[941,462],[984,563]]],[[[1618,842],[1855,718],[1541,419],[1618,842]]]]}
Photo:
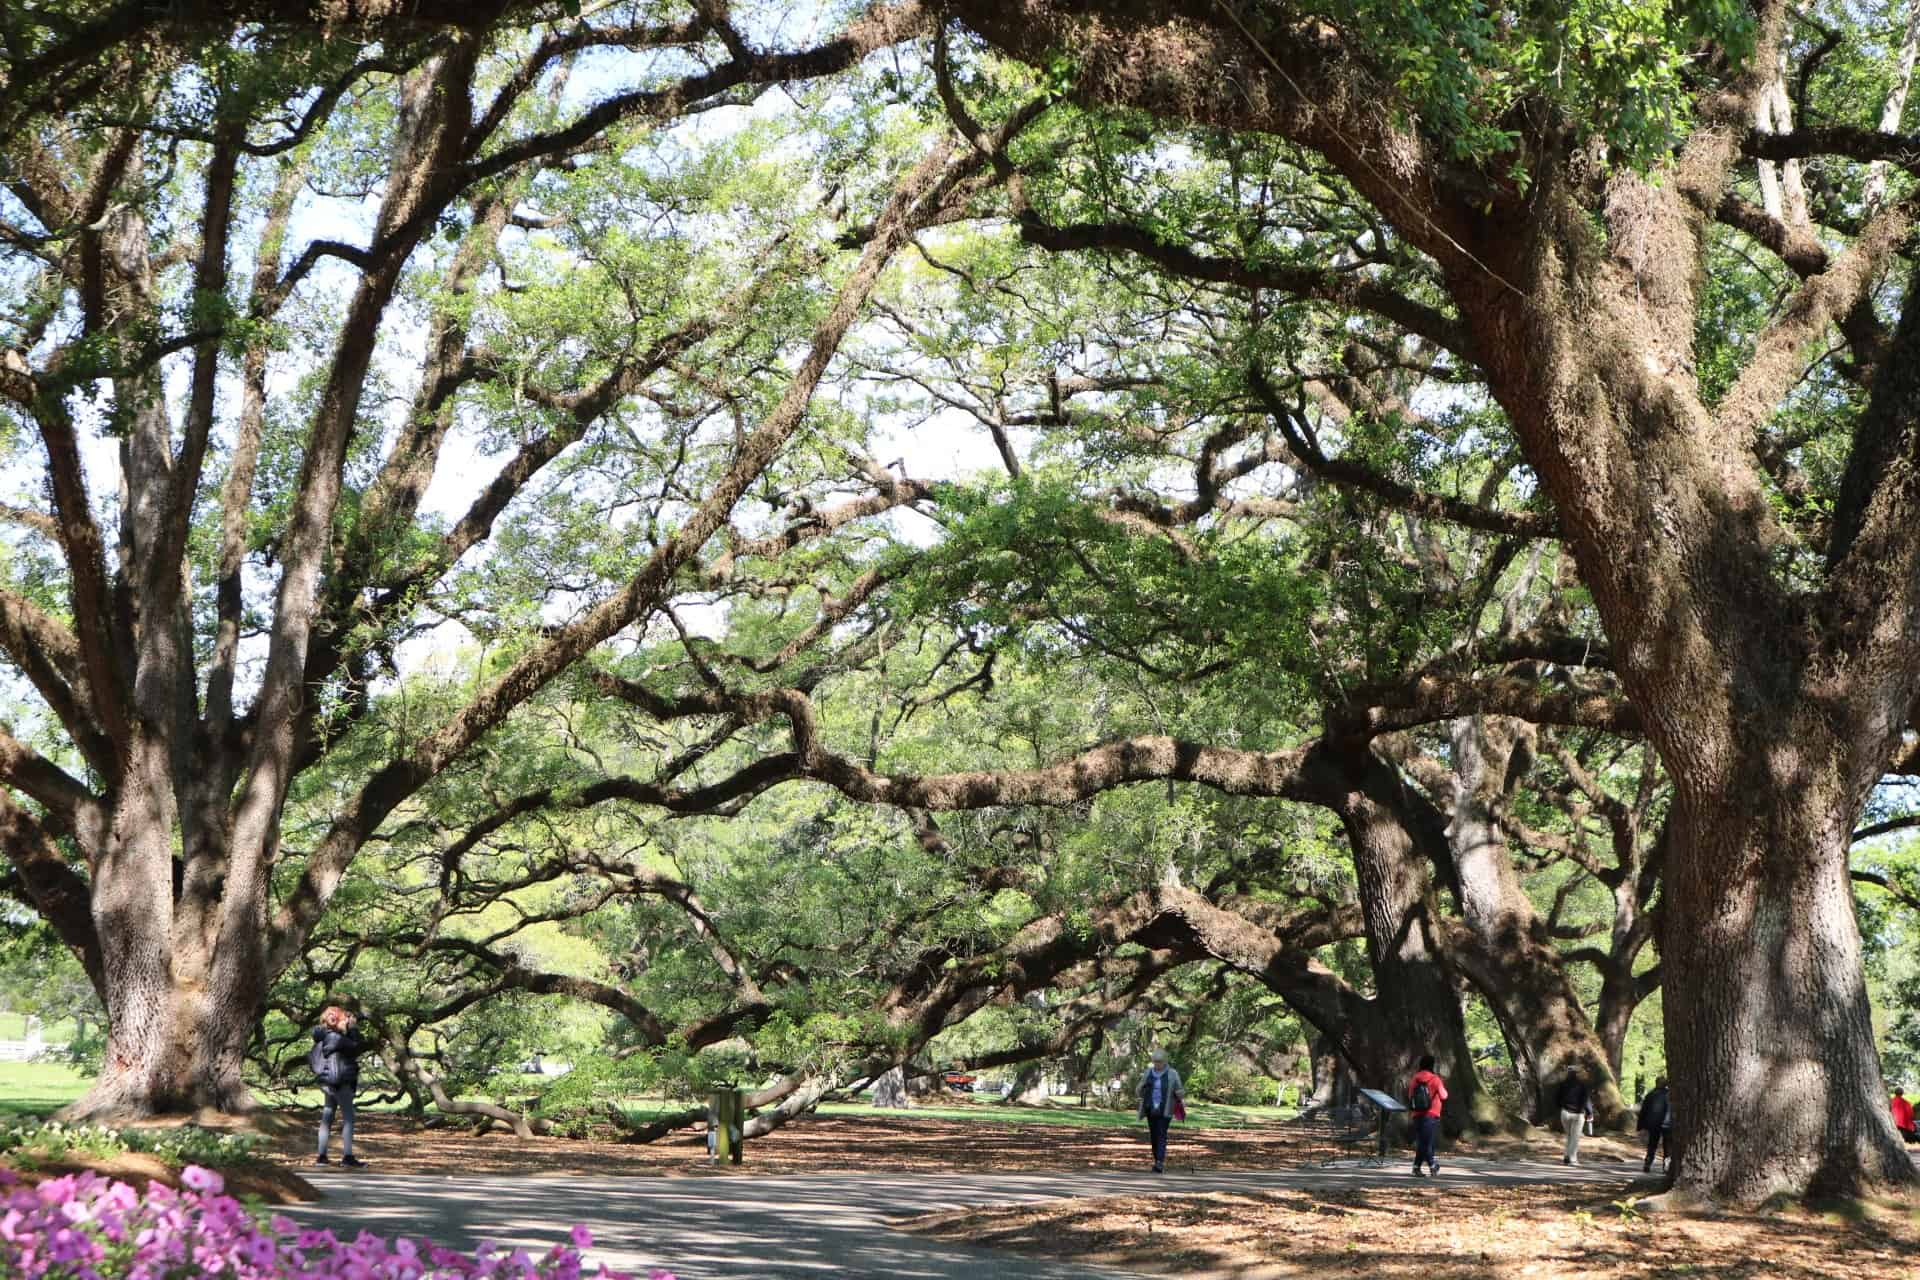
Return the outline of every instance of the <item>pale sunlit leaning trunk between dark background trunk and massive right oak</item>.
{"type": "Polygon", "coordinates": [[[1626,1103],[1607,1050],[1572,983],[1565,960],[1513,869],[1494,808],[1503,802],[1515,750],[1515,727],[1500,718],[1453,722],[1453,819],[1448,839],[1459,892],[1453,960],[1486,996],[1513,1046],[1528,1094],[1530,1119],[1555,1111],[1553,1090],[1569,1071],[1594,1086],[1594,1111],[1620,1125],[1626,1103]],[[1465,935],[1465,936],[1461,936],[1465,935]]]}

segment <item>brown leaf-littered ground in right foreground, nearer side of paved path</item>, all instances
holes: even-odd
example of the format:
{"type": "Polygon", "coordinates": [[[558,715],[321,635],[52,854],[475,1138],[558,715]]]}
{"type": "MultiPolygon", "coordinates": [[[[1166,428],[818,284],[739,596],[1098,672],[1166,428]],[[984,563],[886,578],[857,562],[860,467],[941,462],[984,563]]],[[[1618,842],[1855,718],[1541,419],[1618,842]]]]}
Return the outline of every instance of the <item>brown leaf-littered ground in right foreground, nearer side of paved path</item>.
{"type": "Polygon", "coordinates": [[[939,1213],[906,1230],[1194,1280],[1920,1278],[1920,1215],[1640,1215],[1592,1188],[1413,1182],[939,1213]]]}

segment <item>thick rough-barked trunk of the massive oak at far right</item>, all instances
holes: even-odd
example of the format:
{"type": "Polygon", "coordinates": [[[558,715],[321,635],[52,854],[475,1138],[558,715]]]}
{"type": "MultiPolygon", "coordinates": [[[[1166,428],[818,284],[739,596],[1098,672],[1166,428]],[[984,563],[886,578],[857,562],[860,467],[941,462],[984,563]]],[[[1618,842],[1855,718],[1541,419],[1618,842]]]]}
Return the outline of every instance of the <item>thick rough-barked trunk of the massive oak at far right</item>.
{"type": "MultiPolygon", "coordinates": [[[[1626,186],[1617,207],[1651,226],[1657,248],[1622,274],[1672,301],[1692,290],[1667,261],[1692,261],[1690,215],[1672,194],[1626,186]]],[[[1676,1190],[1755,1203],[1912,1182],[1884,1105],[1845,864],[1912,699],[1910,679],[1876,670],[1893,660],[1872,656],[1891,637],[1847,631],[1905,614],[1905,587],[1862,574],[1834,599],[1803,599],[1780,583],[1766,539],[1743,535],[1768,522],[1753,470],[1726,459],[1713,443],[1724,426],[1659,374],[1686,359],[1692,330],[1672,320],[1684,307],[1609,313],[1596,284],[1571,288],[1565,244],[1580,232],[1563,226],[1505,259],[1538,284],[1524,307],[1486,299],[1469,313],[1482,345],[1500,347],[1492,384],[1563,503],[1620,679],[1674,779],[1661,927],[1676,1190]],[[1596,334],[1644,359],[1592,363],[1596,334]],[[1638,470],[1667,480],[1580,487],[1638,470]],[[1647,543],[1647,530],[1670,533],[1647,543]],[[1626,557],[1634,543],[1649,555],[1626,557]],[[1853,643],[1860,651],[1845,652],[1853,643]]],[[[1912,307],[1908,326],[1920,328],[1912,307]]],[[[1891,545],[1876,555],[1895,558],[1891,545]]]]}

